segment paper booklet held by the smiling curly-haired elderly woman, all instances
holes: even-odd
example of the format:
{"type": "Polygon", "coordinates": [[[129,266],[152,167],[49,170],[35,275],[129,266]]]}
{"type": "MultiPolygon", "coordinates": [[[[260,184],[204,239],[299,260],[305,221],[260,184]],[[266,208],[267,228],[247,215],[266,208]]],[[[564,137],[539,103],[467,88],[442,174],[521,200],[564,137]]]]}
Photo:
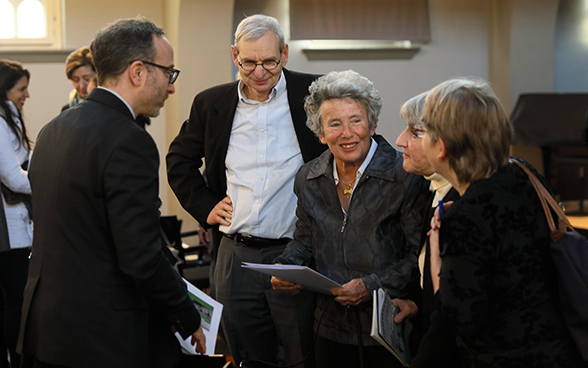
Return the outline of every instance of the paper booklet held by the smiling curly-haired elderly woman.
{"type": "Polygon", "coordinates": [[[331,295],[331,289],[341,287],[335,281],[321,275],[306,266],[296,265],[270,265],[260,263],[243,262],[243,268],[249,268],[267,275],[295,282],[308,290],[331,295]]]}

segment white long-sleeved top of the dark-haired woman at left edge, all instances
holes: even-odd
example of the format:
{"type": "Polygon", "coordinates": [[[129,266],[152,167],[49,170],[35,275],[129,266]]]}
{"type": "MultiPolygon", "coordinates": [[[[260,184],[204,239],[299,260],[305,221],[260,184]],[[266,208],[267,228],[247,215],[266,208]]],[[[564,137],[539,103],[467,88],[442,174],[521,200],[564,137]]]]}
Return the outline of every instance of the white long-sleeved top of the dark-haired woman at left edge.
{"type": "MultiPolygon", "coordinates": [[[[22,126],[18,118],[18,110],[11,101],[6,101],[13,120],[22,126]]],[[[28,151],[24,143],[21,143],[6,120],[0,116],[0,179],[10,190],[17,193],[31,194],[31,184],[27,172],[20,165],[28,160],[28,151]]],[[[8,226],[8,239],[10,247],[26,248],[33,244],[33,229],[29,220],[29,212],[23,203],[10,205],[6,203],[2,195],[6,225],[8,226]]]]}

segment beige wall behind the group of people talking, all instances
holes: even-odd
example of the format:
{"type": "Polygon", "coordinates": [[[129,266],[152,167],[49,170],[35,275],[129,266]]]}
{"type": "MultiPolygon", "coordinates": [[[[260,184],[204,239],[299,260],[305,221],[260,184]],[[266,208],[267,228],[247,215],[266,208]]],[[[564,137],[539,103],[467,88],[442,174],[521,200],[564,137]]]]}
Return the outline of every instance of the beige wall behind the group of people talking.
{"type": "MultiPolygon", "coordinates": [[[[65,1],[65,47],[69,50],[89,44],[98,29],[121,17],[142,14],[167,31],[182,73],[176,94],[148,130],[162,157],[162,212],[180,214],[184,220],[189,216],[167,189],[163,158],[188,117],[194,95],[234,78],[229,49],[233,18],[263,11],[276,16],[288,34],[287,1],[238,0],[236,4],[234,0],[65,1]]],[[[402,103],[451,77],[490,79],[507,109],[520,92],[551,91],[557,4],[557,0],[430,0],[432,40],[412,59],[309,61],[302,52],[305,41],[293,41],[288,67],[312,73],[354,69],[373,80],[384,101],[378,132],[394,143],[404,126],[398,116],[402,103]]],[[[25,66],[32,77],[24,112],[34,137],[67,102],[72,87],[61,61],[25,66]]]]}

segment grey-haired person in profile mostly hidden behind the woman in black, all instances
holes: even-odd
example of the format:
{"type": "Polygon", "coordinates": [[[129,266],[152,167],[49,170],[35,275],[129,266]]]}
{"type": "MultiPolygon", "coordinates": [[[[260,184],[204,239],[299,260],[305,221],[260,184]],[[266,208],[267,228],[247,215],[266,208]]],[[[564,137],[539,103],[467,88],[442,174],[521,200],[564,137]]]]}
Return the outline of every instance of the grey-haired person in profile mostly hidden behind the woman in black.
{"type": "Polygon", "coordinates": [[[395,299],[394,302],[401,309],[401,313],[396,316],[395,321],[399,323],[403,318],[412,317],[418,311],[420,317],[415,321],[415,325],[419,330],[419,339],[423,334],[428,336],[422,340],[424,343],[419,345],[418,350],[434,352],[426,355],[434,356],[434,361],[425,361],[425,355],[417,353],[411,367],[453,368],[457,365],[455,362],[457,356],[455,337],[448,333],[440,323],[431,324],[431,315],[435,311],[435,294],[431,281],[430,247],[427,233],[431,229],[431,217],[435,213],[439,200],[443,202],[456,201],[459,199],[459,193],[451,187],[445,178],[435,173],[423,150],[424,130],[421,115],[426,97],[427,92],[421,93],[406,101],[400,109],[400,116],[406,121],[406,129],[396,139],[396,145],[402,148],[404,157],[402,166],[407,172],[423,175],[427,180],[430,180],[433,193],[431,194],[431,206],[424,217],[425,223],[421,234],[423,248],[419,257],[419,268],[421,269],[423,293],[415,298],[419,307],[417,308],[417,303],[412,300],[395,299]]]}

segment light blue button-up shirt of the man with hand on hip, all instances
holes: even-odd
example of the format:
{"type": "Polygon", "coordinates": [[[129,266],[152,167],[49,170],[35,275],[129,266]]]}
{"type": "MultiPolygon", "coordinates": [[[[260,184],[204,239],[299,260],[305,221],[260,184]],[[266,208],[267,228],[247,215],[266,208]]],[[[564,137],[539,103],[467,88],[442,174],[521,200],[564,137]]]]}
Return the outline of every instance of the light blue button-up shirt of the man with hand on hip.
{"type": "Polygon", "coordinates": [[[286,79],[280,76],[266,101],[250,100],[239,83],[225,164],[233,202],[225,234],[291,238],[296,227],[294,177],[304,163],[294,131],[286,79]]]}

